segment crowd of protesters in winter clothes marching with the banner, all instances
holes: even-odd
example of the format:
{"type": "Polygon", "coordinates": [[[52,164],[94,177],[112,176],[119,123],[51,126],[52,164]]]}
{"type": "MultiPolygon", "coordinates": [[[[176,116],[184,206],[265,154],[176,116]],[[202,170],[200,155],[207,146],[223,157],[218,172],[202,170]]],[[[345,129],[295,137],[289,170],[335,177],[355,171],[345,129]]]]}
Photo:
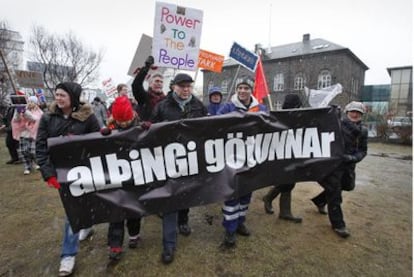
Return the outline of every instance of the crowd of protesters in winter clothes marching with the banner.
{"type": "MultiPolygon", "coordinates": [[[[91,104],[81,101],[82,87],[74,82],[63,82],[56,86],[52,103],[41,109],[36,96],[27,97],[24,106],[10,106],[3,118],[2,129],[6,130],[6,146],[9,150],[9,165],[23,164],[23,174],[39,169],[50,187],[60,189],[56,170],[50,161],[47,139],[57,136],[80,135],[101,131],[110,134],[112,129],[125,130],[140,126],[144,130],[151,124],[186,118],[218,116],[233,111],[268,112],[253,96],[253,80],[242,78],[236,84],[230,101],[223,101],[220,87],[212,86],[208,91],[209,103],[205,106],[194,94],[194,80],[188,74],[178,73],[170,83],[170,91],[163,92],[164,78],[158,71],[151,71],[154,59],[150,56],[138,71],[132,83],[132,96],[128,98],[128,86],[119,84],[117,97],[107,108],[96,97],[91,104]],[[150,74],[150,76],[149,76],[150,74]],[[148,89],[144,88],[145,80],[148,89]]],[[[286,96],[284,109],[298,109],[302,100],[298,94],[286,96]]],[[[350,235],[341,210],[342,190],[352,190],[355,186],[355,165],[367,153],[367,130],[361,119],[365,108],[360,102],[351,102],[345,107],[341,128],[345,141],[345,155],[342,164],[332,174],[320,181],[324,188],[320,195],[312,199],[321,214],[328,214],[336,234],[346,238],[350,235]],[[326,210],[327,206],[327,210],[326,210]]],[[[291,213],[291,193],[295,184],[273,184],[264,196],[264,209],[273,214],[272,200],[280,195],[279,218],[301,223],[302,218],[291,213]]],[[[246,215],[252,193],[224,202],[222,208],[224,227],[223,245],[231,248],[236,244],[236,235],[249,236],[246,215]]],[[[161,261],[169,264],[177,250],[177,233],[189,236],[190,209],[182,209],[161,214],[162,245],[161,261]]],[[[128,232],[128,247],[139,244],[141,218],[128,218],[110,222],[108,225],[109,259],[119,261],[123,254],[125,225],[128,232]]],[[[61,249],[59,276],[73,273],[79,241],[93,234],[93,227],[74,233],[69,221],[65,220],[61,249]]]]}

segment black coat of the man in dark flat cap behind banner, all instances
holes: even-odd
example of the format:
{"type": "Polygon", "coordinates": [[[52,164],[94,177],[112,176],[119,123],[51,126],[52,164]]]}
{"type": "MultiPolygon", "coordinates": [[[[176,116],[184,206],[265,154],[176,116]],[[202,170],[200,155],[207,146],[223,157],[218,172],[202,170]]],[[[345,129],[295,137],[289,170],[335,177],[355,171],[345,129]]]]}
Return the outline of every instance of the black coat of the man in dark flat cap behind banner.
{"type": "Polygon", "coordinates": [[[195,96],[185,105],[184,111],[181,110],[177,101],[173,98],[173,93],[169,93],[167,98],[155,106],[152,114],[152,122],[173,121],[185,118],[196,118],[207,115],[207,108],[195,96]]]}

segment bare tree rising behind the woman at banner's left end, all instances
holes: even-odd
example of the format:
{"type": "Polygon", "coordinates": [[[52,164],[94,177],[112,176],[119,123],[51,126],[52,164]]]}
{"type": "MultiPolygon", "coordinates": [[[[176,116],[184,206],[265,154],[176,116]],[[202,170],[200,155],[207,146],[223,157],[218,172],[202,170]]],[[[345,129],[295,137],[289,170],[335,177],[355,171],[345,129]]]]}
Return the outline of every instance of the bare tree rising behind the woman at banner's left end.
{"type": "Polygon", "coordinates": [[[85,47],[72,32],[49,34],[43,27],[34,26],[30,46],[33,51],[30,57],[37,63],[36,71],[42,72],[45,85],[52,93],[60,82],[72,81],[87,86],[99,77],[102,51],[85,47]]]}

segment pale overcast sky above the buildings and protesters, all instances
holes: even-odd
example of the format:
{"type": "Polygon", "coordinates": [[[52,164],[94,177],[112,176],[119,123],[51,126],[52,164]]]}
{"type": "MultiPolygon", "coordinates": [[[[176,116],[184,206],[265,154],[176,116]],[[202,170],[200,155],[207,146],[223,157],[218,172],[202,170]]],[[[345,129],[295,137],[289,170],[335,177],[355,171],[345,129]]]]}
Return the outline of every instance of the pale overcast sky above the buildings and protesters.
{"type": "MultiPolygon", "coordinates": [[[[226,57],[233,42],[253,50],[256,43],[294,43],[309,33],[311,39],[326,39],[358,56],[369,67],[365,84],[389,84],[386,68],[413,63],[412,0],[161,2],[203,10],[200,47],[226,57]]],[[[25,40],[33,25],[49,32],[73,31],[85,45],[104,49],[100,79],[120,83],[129,80],[141,35],[153,36],[154,13],[154,0],[1,0],[0,20],[25,40]]]]}

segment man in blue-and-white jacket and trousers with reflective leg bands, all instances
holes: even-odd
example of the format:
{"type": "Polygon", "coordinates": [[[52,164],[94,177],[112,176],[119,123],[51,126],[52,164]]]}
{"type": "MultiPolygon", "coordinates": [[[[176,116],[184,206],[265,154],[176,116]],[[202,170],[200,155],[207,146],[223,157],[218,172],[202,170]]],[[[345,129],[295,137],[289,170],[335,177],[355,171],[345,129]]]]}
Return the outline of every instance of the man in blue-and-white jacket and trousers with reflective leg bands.
{"type": "MultiPolygon", "coordinates": [[[[225,103],[218,111],[218,114],[226,114],[233,111],[242,112],[266,112],[267,108],[259,104],[256,98],[252,96],[253,80],[243,78],[236,86],[236,94],[232,96],[231,102],[225,103]]],[[[246,213],[249,208],[252,193],[240,196],[239,198],[230,199],[224,202],[223,226],[226,229],[224,234],[223,245],[233,247],[236,244],[236,233],[242,236],[249,236],[250,231],[244,225],[246,213]]]]}

